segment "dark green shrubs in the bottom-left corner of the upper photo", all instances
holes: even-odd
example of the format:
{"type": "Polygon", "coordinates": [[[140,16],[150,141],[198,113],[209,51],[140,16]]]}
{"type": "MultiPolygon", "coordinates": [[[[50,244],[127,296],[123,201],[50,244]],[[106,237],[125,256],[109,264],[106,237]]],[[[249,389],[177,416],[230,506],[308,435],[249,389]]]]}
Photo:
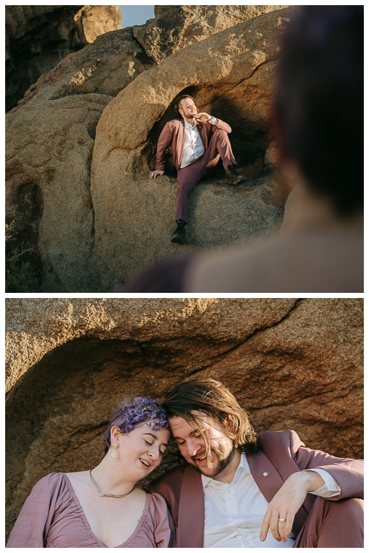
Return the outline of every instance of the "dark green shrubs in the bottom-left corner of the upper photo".
{"type": "Polygon", "coordinates": [[[90,288],[89,286],[71,286],[66,278],[60,284],[43,284],[42,277],[29,261],[22,257],[30,252],[27,244],[16,246],[18,233],[14,221],[5,225],[5,291],[8,294],[105,294],[110,289],[90,288]]]}

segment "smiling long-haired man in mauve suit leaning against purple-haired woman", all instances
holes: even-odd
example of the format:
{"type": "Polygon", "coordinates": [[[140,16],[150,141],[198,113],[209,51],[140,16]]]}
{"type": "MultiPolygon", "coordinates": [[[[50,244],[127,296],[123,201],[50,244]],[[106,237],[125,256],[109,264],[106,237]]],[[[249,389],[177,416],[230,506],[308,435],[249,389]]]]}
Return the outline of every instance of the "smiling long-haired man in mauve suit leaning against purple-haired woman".
{"type": "Polygon", "coordinates": [[[224,385],[173,385],[162,406],[188,463],[149,486],[167,501],[178,547],[363,547],[363,462],[256,435],[224,385]]]}

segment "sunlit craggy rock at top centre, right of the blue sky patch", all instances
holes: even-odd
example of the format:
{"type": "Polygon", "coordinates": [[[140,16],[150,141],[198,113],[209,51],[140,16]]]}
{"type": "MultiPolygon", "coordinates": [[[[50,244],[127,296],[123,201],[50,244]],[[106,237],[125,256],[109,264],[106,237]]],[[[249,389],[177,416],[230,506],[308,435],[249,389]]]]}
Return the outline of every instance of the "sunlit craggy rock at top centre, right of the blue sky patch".
{"type": "Polygon", "coordinates": [[[134,25],[133,34],[157,63],[207,36],[284,6],[155,6],[155,18],[134,25]]]}

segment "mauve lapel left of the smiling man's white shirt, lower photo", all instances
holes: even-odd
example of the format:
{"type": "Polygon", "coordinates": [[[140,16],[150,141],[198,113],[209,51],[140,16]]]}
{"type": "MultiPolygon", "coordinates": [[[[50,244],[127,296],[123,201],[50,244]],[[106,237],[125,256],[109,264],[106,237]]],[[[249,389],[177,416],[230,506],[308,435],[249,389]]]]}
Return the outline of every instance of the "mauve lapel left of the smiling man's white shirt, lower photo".
{"type": "Polygon", "coordinates": [[[205,506],[201,474],[186,467],[180,489],[178,547],[204,547],[205,506]]]}

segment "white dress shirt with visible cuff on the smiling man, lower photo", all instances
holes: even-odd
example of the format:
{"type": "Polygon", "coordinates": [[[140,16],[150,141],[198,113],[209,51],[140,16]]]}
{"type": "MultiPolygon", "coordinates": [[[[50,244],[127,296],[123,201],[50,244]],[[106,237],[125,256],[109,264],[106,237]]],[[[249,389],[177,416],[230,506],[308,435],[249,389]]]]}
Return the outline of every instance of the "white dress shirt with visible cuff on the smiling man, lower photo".
{"type": "MultiPolygon", "coordinates": [[[[321,497],[339,495],[341,488],[323,469],[314,469],[325,485],[310,492],[321,497]]],[[[245,453],[242,453],[235,478],[230,484],[201,474],[205,500],[204,547],[292,547],[295,536],[286,542],[273,538],[260,541],[261,526],[268,502],[254,481],[245,453]]]]}

